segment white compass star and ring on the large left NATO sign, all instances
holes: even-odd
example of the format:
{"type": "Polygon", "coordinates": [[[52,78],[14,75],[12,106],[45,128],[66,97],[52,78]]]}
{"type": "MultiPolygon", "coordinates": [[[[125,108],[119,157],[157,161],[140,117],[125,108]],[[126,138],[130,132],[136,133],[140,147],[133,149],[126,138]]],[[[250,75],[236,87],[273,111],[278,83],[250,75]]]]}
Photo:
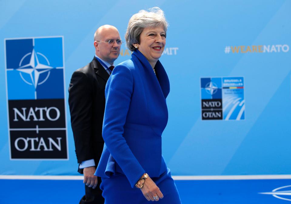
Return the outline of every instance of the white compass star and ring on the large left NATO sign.
{"type": "Polygon", "coordinates": [[[33,85],[36,88],[37,85],[40,85],[40,84],[44,83],[49,78],[49,74],[50,74],[49,71],[51,69],[53,69],[53,67],[49,66],[49,60],[42,53],[35,53],[35,50],[32,49],[31,53],[27,53],[25,56],[22,57],[22,59],[19,62],[19,68],[16,69],[16,70],[20,72],[20,76],[21,76],[22,80],[25,81],[25,83],[28,83],[29,85],[33,85]],[[22,61],[28,55],[31,55],[29,63],[25,64],[25,65],[22,65],[22,61]],[[37,55],[40,55],[40,56],[44,57],[45,60],[47,61],[48,65],[39,63],[37,55]],[[46,78],[44,80],[42,80],[41,82],[39,82],[38,81],[39,80],[39,75],[42,74],[42,73],[45,73],[45,72],[48,72],[46,78]],[[22,76],[22,73],[29,74],[32,83],[30,83],[27,80],[25,80],[24,77],[22,76]]]}

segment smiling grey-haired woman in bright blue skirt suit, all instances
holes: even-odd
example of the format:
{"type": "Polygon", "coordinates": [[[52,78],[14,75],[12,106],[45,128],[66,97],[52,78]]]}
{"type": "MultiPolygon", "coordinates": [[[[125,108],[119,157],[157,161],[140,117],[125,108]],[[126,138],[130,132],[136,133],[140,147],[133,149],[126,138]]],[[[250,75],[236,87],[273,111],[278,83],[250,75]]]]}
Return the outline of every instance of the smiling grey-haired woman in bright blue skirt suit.
{"type": "Polygon", "coordinates": [[[125,34],[132,58],[117,65],[106,84],[105,144],[95,172],[106,204],[181,203],[162,157],[170,86],[159,58],[167,26],[158,7],[133,15],[125,34]]]}

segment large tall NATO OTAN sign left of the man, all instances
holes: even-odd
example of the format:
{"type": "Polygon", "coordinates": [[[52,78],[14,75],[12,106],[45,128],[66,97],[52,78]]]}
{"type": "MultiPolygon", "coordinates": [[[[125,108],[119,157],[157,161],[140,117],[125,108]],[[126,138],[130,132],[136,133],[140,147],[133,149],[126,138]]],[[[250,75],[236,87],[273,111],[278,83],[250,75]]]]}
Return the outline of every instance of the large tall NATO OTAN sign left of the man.
{"type": "Polygon", "coordinates": [[[68,159],[62,37],[5,39],[11,159],[68,159]]]}

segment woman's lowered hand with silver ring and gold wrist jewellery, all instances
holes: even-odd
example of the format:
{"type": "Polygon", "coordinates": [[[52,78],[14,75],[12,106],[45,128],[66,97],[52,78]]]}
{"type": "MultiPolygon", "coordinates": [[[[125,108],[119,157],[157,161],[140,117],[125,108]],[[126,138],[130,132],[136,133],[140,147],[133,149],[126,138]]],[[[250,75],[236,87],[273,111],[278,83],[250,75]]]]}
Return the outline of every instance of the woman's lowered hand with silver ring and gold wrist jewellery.
{"type": "Polygon", "coordinates": [[[145,196],[148,201],[158,201],[159,199],[162,199],[164,197],[159,187],[155,184],[155,182],[152,181],[150,177],[145,179],[145,183],[140,190],[142,191],[143,196],[145,196]],[[154,199],[153,197],[156,196],[158,196],[158,198],[154,199]]]}

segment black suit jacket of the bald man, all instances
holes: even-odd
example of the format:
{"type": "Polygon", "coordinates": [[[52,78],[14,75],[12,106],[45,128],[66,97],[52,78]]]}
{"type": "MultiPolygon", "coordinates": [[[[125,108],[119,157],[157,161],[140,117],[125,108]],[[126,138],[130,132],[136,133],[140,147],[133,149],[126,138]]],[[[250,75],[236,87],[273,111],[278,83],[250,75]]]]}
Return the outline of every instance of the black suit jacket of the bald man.
{"type": "MultiPolygon", "coordinates": [[[[72,75],[69,107],[78,163],[94,159],[97,166],[101,157],[104,92],[108,78],[109,74],[95,57],[72,75]]],[[[78,172],[83,173],[83,169],[78,168],[78,172]]]]}

